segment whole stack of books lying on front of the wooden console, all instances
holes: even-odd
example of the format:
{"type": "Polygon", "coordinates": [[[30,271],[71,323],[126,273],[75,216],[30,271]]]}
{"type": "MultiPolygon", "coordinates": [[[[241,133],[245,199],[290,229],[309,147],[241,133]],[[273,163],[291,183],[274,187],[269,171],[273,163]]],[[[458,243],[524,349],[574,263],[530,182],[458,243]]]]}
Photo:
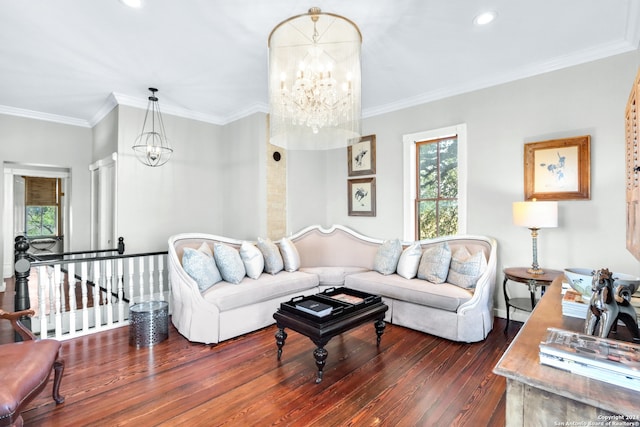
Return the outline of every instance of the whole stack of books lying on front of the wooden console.
{"type": "Polygon", "coordinates": [[[540,363],[640,391],[640,345],[548,328],[540,363]]]}

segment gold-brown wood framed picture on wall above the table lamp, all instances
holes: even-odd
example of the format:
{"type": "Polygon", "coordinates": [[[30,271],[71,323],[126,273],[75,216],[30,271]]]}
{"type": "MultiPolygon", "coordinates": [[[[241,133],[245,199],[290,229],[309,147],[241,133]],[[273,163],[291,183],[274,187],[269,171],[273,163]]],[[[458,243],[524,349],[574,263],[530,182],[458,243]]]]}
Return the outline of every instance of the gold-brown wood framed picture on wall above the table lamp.
{"type": "Polygon", "coordinates": [[[524,145],[525,200],[591,198],[591,136],[524,145]]]}

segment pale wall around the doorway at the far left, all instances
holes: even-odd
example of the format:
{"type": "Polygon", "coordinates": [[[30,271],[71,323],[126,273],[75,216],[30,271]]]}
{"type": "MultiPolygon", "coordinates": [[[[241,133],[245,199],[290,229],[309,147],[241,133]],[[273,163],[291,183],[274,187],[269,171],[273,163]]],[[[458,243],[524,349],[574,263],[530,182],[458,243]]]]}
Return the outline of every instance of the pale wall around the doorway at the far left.
{"type": "MultiPolygon", "coordinates": [[[[0,114],[0,160],[71,170],[71,229],[65,236],[71,250],[89,249],[89,163],[91,129],[0,114]]],[[[4,174],[0,176],[0,200],[4,200],[4,174]]],[[[5,239],[0,237],[0,259],[5,239]]],[[[4,270],[4,269],[3,269],[4,270]]],[[[3,271],[10,277],[13,271],[3,271]]]]}

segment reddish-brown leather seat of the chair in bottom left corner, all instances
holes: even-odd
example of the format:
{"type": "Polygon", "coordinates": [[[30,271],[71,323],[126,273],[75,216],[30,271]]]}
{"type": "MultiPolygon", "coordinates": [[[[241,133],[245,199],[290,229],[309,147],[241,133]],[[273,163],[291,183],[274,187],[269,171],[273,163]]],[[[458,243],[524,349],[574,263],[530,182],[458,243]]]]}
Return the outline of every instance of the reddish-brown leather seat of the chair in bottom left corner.
{"type": "Polygon", "coordinates": [[[7,418],[15,421],[47,385],[60,346],[48,339],[0,345],[0,425],[7,418]]]}

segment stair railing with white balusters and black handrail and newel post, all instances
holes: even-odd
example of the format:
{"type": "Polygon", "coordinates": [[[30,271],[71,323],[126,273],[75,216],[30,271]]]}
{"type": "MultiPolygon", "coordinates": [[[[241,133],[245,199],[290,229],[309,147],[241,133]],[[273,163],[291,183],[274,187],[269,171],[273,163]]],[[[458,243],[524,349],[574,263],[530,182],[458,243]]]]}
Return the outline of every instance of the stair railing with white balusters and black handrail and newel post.
{"type": "Polygon", "coordinates": [[[55,254],[55,258],[34,257],[26,253],[28,248],[24,237],[16,238],[15,307],[24,310],[34,304],[37,323],[31,324],[30,318],[24,323],[41,338],[51,333],[66,339],[126,326],[129,306],[168,299],[166,251],[125,255],[122,238],[116,249],[55,254]],[[96,256],[96,252],[114,255],[96,256]],[[37,287],[31,284],[37,292],[31,296],[30,277],[37,277],[37,287]]]}

